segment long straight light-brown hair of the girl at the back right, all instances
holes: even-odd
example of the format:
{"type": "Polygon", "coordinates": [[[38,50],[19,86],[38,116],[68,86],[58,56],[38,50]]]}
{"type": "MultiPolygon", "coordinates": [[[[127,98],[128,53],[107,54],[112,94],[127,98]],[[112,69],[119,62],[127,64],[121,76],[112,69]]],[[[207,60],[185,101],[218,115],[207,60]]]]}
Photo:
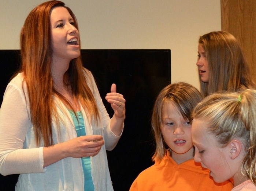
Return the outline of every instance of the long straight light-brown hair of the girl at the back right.
{"type": "Polygon", "coordinates": [[[233,35],[225,31],[210,32],[199,38],[199,44],[205,50],[209,68],[209,82],[200,80],[204,97],[255,87],[244,53],[233,35]]]}

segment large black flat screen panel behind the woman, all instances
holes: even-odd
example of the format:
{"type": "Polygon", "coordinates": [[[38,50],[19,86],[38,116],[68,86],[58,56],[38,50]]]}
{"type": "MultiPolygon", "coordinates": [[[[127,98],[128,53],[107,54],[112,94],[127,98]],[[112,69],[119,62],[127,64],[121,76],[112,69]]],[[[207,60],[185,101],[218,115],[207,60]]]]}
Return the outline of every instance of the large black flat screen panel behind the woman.
{"type": "MultiPolygon", "coordinates": [[[[111,178],[116,191],[129,190],[131,183],[152,165],[154,151],[151,111],[159,91],[171,82],[171,51],[168,49],[81,50],[84,67],[92,71],[104,105],[112,83],[126,99],[123,135],[113,151],[107,151],[111,178]]],[[[0,104],[5,87],[20,63],[19,50],[0,50],[0,104]]],[[[0,176],[0,183],[16,183],[16,176],[0,176]],[[12,179],[12,181],[11,181],[12,179]]]]}

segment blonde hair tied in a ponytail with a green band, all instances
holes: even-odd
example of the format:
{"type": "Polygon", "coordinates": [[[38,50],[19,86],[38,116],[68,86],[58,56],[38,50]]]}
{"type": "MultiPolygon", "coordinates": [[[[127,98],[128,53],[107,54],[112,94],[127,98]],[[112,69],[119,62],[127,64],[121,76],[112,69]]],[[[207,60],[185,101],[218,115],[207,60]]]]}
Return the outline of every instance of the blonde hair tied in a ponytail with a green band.
{"type": "Polygon", "coordinates": [[[206,132],[216,137],[220,148],[232,139],[242,141],[241,172],[256,183],[256,90],[209,95],[194,108],[192,117],[207,124],[206,132]]]}

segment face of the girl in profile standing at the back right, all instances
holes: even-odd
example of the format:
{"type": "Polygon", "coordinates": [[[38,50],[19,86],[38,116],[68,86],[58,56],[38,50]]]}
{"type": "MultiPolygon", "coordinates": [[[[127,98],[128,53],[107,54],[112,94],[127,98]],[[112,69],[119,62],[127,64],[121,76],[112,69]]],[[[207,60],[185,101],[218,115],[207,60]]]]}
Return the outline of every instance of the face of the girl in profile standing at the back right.
{"type": "Polygon", "coordinates": [[[205,50],[202,44],[198,44],[198,59],[196,65],[199,70],[200,79],[202,82],[209,82],[209,69],[208,62],[206,58],[205,50]]]}

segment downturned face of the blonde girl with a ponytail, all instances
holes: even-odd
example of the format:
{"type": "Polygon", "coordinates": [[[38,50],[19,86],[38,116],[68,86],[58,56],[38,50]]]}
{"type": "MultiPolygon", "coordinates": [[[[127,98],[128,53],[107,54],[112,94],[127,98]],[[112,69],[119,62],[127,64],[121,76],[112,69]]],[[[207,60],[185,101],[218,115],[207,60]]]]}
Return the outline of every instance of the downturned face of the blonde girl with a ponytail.
{"type": "Polygon", "coordinates": [[[220,148],[214,135],[206,132],[206,125],[200,119],[194,119],[191,128],[192,141],[195,147],[194,160],[202,167],[210,170],[210,176],[215,182],[225,182],[233,177],[232,167],[229,166],[229,148],[220,148]]]}

